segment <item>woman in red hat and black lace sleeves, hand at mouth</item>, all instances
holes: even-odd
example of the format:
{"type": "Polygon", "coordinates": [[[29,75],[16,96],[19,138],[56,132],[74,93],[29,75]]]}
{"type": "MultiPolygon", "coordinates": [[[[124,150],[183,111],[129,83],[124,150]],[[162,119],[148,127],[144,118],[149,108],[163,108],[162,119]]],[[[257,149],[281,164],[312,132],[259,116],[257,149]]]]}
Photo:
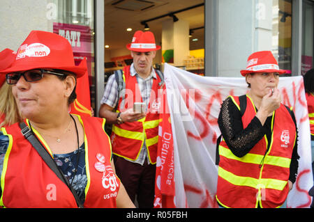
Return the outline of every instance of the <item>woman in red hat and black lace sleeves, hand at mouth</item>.
{"type": "Polygon", "coordinates": [[[221,207],[281,207],[296,180],[297,124],[281,104],[280,70],[271,51],[257,51],[241,70],[248,94],[223,102],[218,125],[218,183],[221,207]]]}

